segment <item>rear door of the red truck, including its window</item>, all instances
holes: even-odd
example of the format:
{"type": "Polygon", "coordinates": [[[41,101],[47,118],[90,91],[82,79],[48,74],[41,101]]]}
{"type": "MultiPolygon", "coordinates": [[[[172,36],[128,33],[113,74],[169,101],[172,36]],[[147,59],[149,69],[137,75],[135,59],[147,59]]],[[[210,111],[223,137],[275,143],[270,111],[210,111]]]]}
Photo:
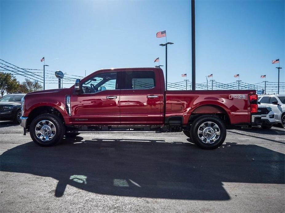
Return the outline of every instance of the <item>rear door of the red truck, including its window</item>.
{"type": "Polygon", "coordinates": [[[122,73],[121,125],[163,124],[162,91],[154,71],[122,73]]]}

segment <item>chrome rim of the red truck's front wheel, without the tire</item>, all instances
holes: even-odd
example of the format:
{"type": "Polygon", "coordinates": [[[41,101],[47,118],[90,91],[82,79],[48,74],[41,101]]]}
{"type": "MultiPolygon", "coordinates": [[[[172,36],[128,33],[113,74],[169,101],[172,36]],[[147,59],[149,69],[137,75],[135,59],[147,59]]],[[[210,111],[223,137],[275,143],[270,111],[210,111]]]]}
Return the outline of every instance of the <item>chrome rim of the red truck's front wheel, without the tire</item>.
{"type": "Polygon", "coordinates": [[[56,128],[53,122],[42,120],[36,125],[35,133],[41,141],[50,141],[56,134],[56,128]]]}

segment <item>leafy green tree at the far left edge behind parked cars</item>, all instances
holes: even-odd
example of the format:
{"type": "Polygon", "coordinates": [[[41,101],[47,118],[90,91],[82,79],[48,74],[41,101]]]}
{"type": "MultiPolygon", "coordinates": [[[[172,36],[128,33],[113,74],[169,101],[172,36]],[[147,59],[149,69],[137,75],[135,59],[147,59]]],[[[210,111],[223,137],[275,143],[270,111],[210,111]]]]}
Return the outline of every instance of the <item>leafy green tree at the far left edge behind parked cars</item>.
{"type": "Polygon", "coordinates": [[[1,97],[5,93],[13,93],[18,91],[20,83],[17,81],[15,76],[10,73],[0,72],[0,93],[1,97]]]}

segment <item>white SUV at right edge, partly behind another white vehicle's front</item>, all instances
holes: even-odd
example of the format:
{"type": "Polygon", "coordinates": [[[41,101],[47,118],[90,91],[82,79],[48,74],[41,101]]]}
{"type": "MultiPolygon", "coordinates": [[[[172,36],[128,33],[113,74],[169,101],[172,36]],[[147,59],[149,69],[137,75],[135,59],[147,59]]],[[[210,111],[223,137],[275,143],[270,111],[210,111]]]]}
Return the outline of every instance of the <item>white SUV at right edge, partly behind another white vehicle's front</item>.
{"type": "Polygon", "coordinates": [[[276,123],[285,128],[285,95],[259,95],[258,103],[270,106],[274,112],[276,123]]]}

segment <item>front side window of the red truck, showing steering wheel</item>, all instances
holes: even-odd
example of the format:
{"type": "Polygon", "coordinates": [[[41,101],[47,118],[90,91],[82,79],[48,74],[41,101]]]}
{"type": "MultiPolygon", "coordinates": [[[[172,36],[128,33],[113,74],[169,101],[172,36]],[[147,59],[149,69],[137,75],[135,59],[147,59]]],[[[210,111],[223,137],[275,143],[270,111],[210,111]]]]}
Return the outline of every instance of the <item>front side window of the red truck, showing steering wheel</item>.
{"type": "Polygon", "coordinates": [[[82,93],[117,89],[117,72],[101,72],[82,83],[82,93]]]}

